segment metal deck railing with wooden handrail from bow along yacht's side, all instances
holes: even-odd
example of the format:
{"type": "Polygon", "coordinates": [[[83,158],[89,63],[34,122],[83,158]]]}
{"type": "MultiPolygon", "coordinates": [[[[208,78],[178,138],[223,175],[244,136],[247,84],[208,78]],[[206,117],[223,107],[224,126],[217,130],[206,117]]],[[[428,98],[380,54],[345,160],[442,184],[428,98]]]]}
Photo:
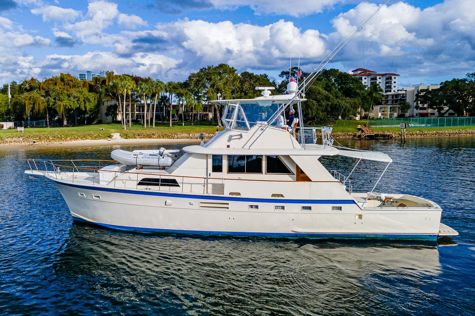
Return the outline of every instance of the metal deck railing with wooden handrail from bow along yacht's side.
{"type": "MultiPolygon", "coordinates": [[[[114,172],[114,176],[112,179],[107,183],[107,186],[110,186],[111,183],[113,183],[114,187],[125,187],[125,188],[131,188],[135,187],[138,188],[138,185],[140,182],[142,182],[143,177],[139,178],[139,175],[146,175],[146,176],[155,176],[157,177],[159,181],[159,186],[152,185],[148,186],[145,185],[146,190],[158,190],[158,191],[169,191],[169,192],[193,192],[197,193],[196,190],[193,190],[193,185],[195,186],[203,186],[203,193],[208,193],[208,194],[224,194],[224,185],[225,181],[229,180],[234,180],[234,181],[265,181],[265,182],[301,182],[301,183],[310,183],[313,182],[341,182],[340,180],[335,178],[335,181],[293,181],[293,180],[258,180],[258,179],[232,179],[232,178],[218,178],[218,177],[192,177],[192,176],[178,176],[178,175],[166,175],[166,174],[157,174],[157,173],[144,173],[144,172],[131,172],[134,168],[129,168],[128,171],[116,171],[116,170],[101,170],[101,169],[96,169],[91,166],[79,166],[77,165],[78,163],[81,162],[87,162],[90,164],[91,162],[97,161],[99,164],[101,161],[107,161],[107,162],[117,162],[115,160],[90,160],[90,159],[76,159],[76,160],[47,160],[47,159],[25,159],[28,162],[28,166],[31,171],[42,171],[45,172],[48,176],[54,176],[57,179],[64,179],[63,176],[66,174],[66,178],[69,177],[67,175],[67,172],[61,171],[60,168],[70,168],[72,169],[72,172],[70,175],[71,182],[82,182],[85,184],[90,184],[92,182],[92,185],[102,185],[100,182],[100,173],[99,172],[114,172]],[[62,164],[57,164],[55,162],[62,162],[62,164]],[[65,163],[70,163],[72,166],[67,166],[65,163]],[[45,167],[44,170],[41,170],[39,167],[45,167]],[[76,171],[75,171],[76,170],[76,171]],[[79,171],[79,170],[84,170],[84,171],[79,171]],[[78,179],[78,176],[81,174],[87,174],[91,173],[92,171],[92,177],[89,176],[87,181],[83,179],[78,179]],[[98,176],[96,176],[96,174],[98,176]],[[118,176],[122,174],[129,174],[128,178],[118,178],[118,176]],[[135,177],[132,178],[132,175],[135,177]],[[60,177],[58,177],[60,176],[60,177]],[[165,186],[166,184],[170,185],[170,183],[163,183],[164,185],[161,185],[161,179],[162,177],[170,177],[170,178],[175,178],[177,180],[177,184],[179,187],[175,186],[165,186]],[[91,179],[92,178],[92,179],[91,179]],[[185,182],[185,178],[188,179],[202,179],[199,180],[198,182],[185,182]],[[178,181],[181,179],[181,181],[178,181]],[[116,181],[117,180],[117,181],[116,181]],[[218,180],[218,181],[210,181],[210,180],[218,180]],[[127,183],[133,183],[132,186],[127,186],[127,183]],[[180,185],[181,182],[181,185],[180,185]],[[189,190],[184,190],[184,186],[190,186],[189,190]],[[175,188],[175,189],[173,189],[175,188]],[[179,189],[179,190],[176,190],[179,189]]],[[[146,183],[152,183],[152,182],[146,182],[146,183]]]]}

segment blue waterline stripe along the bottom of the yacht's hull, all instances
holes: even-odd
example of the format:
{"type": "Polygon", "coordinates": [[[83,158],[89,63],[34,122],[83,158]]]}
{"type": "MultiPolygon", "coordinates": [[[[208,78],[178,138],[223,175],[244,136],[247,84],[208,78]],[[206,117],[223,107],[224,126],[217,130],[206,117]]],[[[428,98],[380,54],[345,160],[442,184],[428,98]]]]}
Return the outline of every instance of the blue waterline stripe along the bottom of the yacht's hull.
{"type": "Polygon", "coordinates": [[[214,236],[259,236],[259,237],[279,237],[279,238],[339,238],[339,239],[404,239],[404,240],[437,240],[437,235],[424,234],[342,234],[342,233],[285,233],[285,232],[213,232],[213,231],[187,231],[176,229],[143,228],[129,227],[120,225],[111,225],[86,221],[82,218],[73,216],[73,219],[79,222],[96,224],[99,226],[134,232],[156,232],[185,235],[214,235],[214,236]]]}

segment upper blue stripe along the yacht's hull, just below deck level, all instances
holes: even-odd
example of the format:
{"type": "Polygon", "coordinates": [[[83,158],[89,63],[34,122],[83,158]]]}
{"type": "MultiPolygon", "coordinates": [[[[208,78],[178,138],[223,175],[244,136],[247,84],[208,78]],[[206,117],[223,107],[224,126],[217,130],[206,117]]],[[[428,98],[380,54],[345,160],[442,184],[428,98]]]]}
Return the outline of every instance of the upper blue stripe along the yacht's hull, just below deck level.
{"type": "Polygon", "coordinates": [[[56,180],[52,180],[57,184],[63,186],[72,186],[79,189],[86,190],[95,190],[95,191],[106,191],[106,192],[115,192],[115,193],[125,193],[125,194],[138,194],[138,195],[155,195],[155,196],[166,196],[166,197],[184,197],[192,199],[203,199],[203,200],[218,200],[218,201],[240,201],[240,202],[262,202],[262,203],[292,203],[292,204],[357,204],[354,200],[309,200],[309,199],[285,199],[285,198],[247,198],[247,197],[235,197],[235,196],[216,196],[216,195],[193,195],[193,194],[179,194],[179,193],[163,193],[163,192],[151,192],[151,191],[134,191],[127,189],[118,189],[118,188],[108,188],[100,186],[81,186],[75,185],[72,183],[64,183],[56,180]]]}

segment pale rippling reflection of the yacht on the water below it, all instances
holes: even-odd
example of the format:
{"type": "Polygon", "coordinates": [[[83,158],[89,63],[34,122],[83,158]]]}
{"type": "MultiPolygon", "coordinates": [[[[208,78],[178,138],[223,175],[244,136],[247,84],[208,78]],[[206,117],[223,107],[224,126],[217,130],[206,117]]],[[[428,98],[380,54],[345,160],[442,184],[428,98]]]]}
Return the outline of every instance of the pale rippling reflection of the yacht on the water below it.
{"type": "Polygon", "coordinates": [[[393,314],[426,308],[424,287],[441,273],[437,247],[423,245],[180,237],[75,224],[63,249],[54,274],[74,277],[76,291],[57,299],[79,310],[393,314]]]}

